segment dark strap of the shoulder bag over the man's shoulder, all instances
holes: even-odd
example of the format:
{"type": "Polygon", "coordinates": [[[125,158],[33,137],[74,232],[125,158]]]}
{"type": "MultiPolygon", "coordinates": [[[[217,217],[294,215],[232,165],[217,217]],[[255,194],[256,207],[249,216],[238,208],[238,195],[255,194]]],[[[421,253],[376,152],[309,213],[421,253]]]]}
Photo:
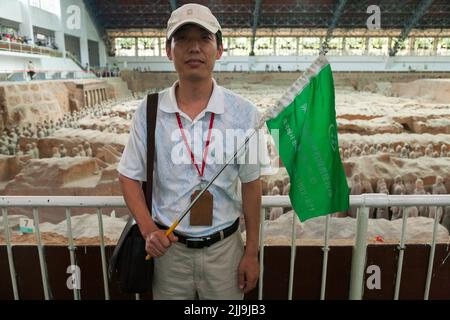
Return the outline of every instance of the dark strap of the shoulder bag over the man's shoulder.
{"type": "Polygon", "coordinates": [[[155,160],[155,129],[158,111],[158,93],[147,96],[147,181],[142,184],[147,208],[152,212],[153,163],[155,160]]]}

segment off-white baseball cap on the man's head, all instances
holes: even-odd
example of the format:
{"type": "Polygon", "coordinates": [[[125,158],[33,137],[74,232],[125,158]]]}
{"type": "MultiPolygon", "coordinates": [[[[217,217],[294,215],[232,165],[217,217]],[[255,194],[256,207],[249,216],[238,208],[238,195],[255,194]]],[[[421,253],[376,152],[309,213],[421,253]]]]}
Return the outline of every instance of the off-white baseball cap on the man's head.
{"type": "Polygon", "coordinates": [[[170,39],[178,28],[188,23],[195,23],[214,34],[221,30],[219,21],[208,7],[188,3],[172,11],[167,21],[167,39],[170,39]]]}

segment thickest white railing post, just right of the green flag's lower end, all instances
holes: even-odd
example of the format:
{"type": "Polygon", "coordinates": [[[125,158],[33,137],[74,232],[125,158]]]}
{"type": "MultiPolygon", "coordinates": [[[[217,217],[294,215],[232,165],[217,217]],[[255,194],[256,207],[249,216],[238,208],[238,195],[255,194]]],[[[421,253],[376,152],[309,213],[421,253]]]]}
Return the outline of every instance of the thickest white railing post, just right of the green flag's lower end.
{"type": "Polygon", "coordinates": [[[364,287],[364,268],[366,265],[367,228],[369,208],[358,208],[356,218],[356,242],[353,246],[352,269],[350,276],[350,300],[361,300],[364,287]]]}

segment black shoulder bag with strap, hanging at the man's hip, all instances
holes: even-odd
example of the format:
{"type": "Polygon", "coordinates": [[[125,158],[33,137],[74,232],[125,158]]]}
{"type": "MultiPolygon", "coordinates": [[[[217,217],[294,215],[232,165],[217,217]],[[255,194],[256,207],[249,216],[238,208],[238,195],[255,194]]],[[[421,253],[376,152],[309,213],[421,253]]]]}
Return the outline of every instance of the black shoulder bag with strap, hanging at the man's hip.
{"type": "MultiPolygon", "coordinates": [[[[142,183],[149,212],[152,210],[153,161],[155,154],[158,93],[147,97],[147,181],[142,183]]],[[[115,279],[124,293],[144,293],[152,285],[153,259],[145,260],[145,239],[130,217],[109,260],[108,277],[115,279]]]]}

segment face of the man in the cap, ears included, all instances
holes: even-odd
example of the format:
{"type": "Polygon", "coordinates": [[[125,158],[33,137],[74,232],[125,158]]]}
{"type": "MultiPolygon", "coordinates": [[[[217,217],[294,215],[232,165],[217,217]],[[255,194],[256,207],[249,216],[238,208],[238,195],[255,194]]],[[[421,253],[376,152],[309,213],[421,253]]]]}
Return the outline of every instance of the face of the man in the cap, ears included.
{"type": "Polygon", "coordinates": [[[223,46],[217,48],[216,36],[195,24],[187,24],[172,36],[166,53],[174,62],[180,79],[199,81],[211,78],[217,59],[223,53],[223,46]]]}

